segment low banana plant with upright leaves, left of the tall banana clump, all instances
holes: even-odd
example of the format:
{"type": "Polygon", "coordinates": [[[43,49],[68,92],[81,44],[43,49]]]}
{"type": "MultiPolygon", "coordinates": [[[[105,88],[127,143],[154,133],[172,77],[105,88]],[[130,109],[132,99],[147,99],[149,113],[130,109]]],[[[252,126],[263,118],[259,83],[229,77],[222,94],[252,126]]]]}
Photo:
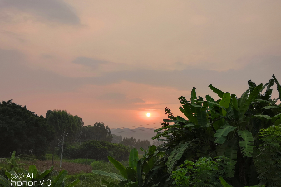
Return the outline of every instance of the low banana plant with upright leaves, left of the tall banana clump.
{"type": "MultiPolygon", "coordinates": [[[[142,148],[141,148],[142,149],[142,148]]],[[[105,175],[116,179],[119,181],[118,185],[113,182],[107,182],[102,180],[108,187],[116,186],[126,186],[126,187],[148,187],[153,184],[160,183],[161,177],[158,180],[153,180],[152,178],[157,174],[160,174],[162,167],[164,165],[158,165],[157,160],[162,155],[161,152],[156,151],[156,146],[150,146],[148,150],[144,150],[144,155],[141,159],[138,157],[138,151],[136,148],[130,151],[129,156],[129,166],[125,168],[120,162],[113,159],[111,156],[108,156],[108,160],[120,171],[120,174],[116,173],[107,173],[105,171],[93,170],[92,172],[99,175],[105,175]]],[[[156,177],[154,177],[155,179],[156,177]]]]}

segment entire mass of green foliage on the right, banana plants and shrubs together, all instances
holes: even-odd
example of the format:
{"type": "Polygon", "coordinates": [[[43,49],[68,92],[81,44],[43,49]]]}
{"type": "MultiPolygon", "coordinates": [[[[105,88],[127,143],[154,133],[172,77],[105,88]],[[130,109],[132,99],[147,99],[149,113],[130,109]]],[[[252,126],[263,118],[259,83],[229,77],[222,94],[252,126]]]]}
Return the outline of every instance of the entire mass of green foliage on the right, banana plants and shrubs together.
{"type": "Polygon", "coordinates": [[[281,107],[271,99],[274,82],[281,96],[274,76],[265,85],[249,80],[249,89],[240,98],[210,84],[220,99],[206,95],[204,101],[193,88],[190,101],[179,98],[185,118],[165,109],[169,119],[155,130],[164,132],[152,137],[163,144],[143,150],[140,160],[132,150],[127,168],[109,156],[121,175],[93,172],[119,180],[118,185],[103,181],[108,187],[280,186],[281,107]]]}

